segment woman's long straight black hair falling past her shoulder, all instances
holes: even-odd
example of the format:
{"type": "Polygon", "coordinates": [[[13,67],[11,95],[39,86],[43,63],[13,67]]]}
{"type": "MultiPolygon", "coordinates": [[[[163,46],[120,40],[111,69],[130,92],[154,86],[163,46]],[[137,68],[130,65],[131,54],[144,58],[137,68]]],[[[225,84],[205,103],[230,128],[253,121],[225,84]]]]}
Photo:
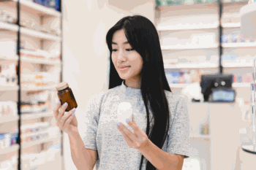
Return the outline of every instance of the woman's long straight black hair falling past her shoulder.
{"type": "MultiPolygon", "coordinates": [[[[121,85],[121,78],[113,65],[112,39],[113,34],[118,30],[124,30],[129,45],[136,50],[143,58],[143,67],[140,72],[140,91],[147,113],[146,134],[157,147],[162,148],[167,138],[169,129],[170,115],[165,90],[171,92],[165,77],[162,51],[159,42],[159,36],[154,24],[141,15],[127,16],[119,20],[115,26],[110,28],[106,36],[108,49],[110,50],[110,78],[109,89],[121,85]],[[148,106],[148,101],[150,106],[148,106]],[[149,112],[148,107],[154,115],[154,126],[149,134],[149,112]]],[[[140,160],[140,170],[143,164],[142,155],[140,160]]],[[[155,170],[156,168],[146,160],[146,170],[155,170]]]]}

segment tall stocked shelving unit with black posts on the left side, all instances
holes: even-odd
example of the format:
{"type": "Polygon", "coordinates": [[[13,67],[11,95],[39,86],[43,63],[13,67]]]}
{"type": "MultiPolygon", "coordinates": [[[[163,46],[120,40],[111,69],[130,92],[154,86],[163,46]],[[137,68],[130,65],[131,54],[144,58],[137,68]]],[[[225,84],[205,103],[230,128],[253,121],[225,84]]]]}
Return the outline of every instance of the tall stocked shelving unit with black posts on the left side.
{"type": "MultiPolygon", "coordinates": [[[[0,161],[0,169],[45,169],[44,164],[47,161],[51,162],[49,169],[53,166],[61,169],[61,155],[59,154],[60,161],[56,163],[55,149],[50,147],[48,152],[35,153],[37,148],[43,149],[39,144],[44,144],[45,147],[50,142],[56,143],[55,139],[60,137],[60,131],[57,131],[59,128],[50,128],[53,122],[53,103],[58,100],[57,96],[52,96],[53,92],[50,90],[53,90],[61,79],[61,12],[56,12],[61,11],[60,1],[24,0],[20,1],[20,10],[17,9],[16,3],[17,1],[0,2],[0,92],[6,93],[7,96],[10,93],[12,96],[12,93],[18,93],[20,88],[18,101],[0,102],[0,155],[6,154],[8,158],[0,161]],[[20,27],[23,28],[16,25],[18,15],[20,27]],[[43,19],[40,20],[40,17],[43,19]],[[21,34],[17,34],[17,28],[21,34]],[[18,44],[20,49],[17,48],[18,44]],[[18,80],[20,87],[10,88],[17,86],[18,80]],[[17,102],[20,102],[20,108],[17,102]],[[18,109],[21,113],[20,127],[17,123],[18,109]],[[13,127],[14,123],[17,127],[13,127]],[[19,145],[18,131],[13,131],[13,128],[20,131],[19,145]],[[19,147],[21,152],[18,152],[19,147]],[[1,152],[3,149],[4,153],[1,152]],[[37,160],[37,163],[33,158],[29,163],[21,159],[18,163],[17,154],[20,154],[21,158],[26,154],[40,155],[41,159],[37,160]]],[[[58,152],[60,150],[59,148],[58,152]]]]}

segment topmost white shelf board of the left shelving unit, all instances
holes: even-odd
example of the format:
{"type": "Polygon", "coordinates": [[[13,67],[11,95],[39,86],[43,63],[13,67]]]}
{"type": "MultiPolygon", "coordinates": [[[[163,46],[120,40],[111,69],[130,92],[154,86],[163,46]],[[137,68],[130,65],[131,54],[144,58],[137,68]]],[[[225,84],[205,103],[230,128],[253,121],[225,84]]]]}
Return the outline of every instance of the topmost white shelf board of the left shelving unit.
{"type": "MultiPolygon", "coordinates": [[[[12,0],[12,1],[17,2],[18,0],[12,0]]],[[[61,16],[61,12],[56,11],[55,9],[44,7],[40,4],[36,4],[33,1],[20,0],[20,4],[21,4],[21,9],[23,9],[23,11],[33,10],[31,13],[33,13],[34,15],[43,15],[43,16],[57,17],[57,18],[60,18],[61,16]],[[24,7],[26,7],[27,9],[24,9],[24,7]]]]}

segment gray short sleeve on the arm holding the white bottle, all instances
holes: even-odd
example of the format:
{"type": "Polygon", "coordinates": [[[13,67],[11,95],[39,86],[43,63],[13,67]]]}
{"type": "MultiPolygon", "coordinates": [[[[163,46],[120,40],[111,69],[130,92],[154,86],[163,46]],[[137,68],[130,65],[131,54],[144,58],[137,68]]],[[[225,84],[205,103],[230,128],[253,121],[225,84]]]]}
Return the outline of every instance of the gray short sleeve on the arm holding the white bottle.
{"type": "Polygon", "coordinates": [[[167,152],[190,157],[188,102],[180,96],[176,104],[176,113],[168,131],[167,152]]]}

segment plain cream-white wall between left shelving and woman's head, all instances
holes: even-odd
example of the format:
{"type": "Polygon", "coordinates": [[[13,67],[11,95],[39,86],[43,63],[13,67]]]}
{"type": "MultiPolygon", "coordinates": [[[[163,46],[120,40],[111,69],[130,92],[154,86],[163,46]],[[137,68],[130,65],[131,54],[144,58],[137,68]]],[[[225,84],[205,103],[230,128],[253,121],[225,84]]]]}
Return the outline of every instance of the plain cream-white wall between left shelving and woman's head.
{"type": "MultiPolygon", "coordinates": [[[[119,6],[118,0],[77,0],[75,3],[63,0],[63,77],[78,102],[75,112],[78,128],[83,128],[79,117],[83,117],[90,96],[108,89],[108,46],[105,36],[109,28],[132,13],[144,15],[154,23],[153,0],[140,2],[129,1],[131,6],[127,10],[124,9],[127,6],[119,6]],[[129,13],[130,9],[132,13],[129,13]]],[[[64,163],[65,169],[76,169],[67,134],[64,134],[64,163]]]]}

